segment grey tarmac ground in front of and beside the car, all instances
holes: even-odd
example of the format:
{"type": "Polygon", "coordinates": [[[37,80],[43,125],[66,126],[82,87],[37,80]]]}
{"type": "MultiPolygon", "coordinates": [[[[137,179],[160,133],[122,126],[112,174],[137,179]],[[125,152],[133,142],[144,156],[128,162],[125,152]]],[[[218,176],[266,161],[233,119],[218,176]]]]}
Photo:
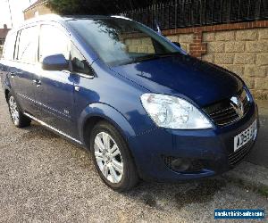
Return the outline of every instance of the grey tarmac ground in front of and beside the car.
{"type": "Polygon", "coordinates": [[[14,128],[0,90],[0,222],[210,222],[227,208],[267,211],[268,202],[221,177],[115,193],[85,150],[36,123],[14,128]]]}

